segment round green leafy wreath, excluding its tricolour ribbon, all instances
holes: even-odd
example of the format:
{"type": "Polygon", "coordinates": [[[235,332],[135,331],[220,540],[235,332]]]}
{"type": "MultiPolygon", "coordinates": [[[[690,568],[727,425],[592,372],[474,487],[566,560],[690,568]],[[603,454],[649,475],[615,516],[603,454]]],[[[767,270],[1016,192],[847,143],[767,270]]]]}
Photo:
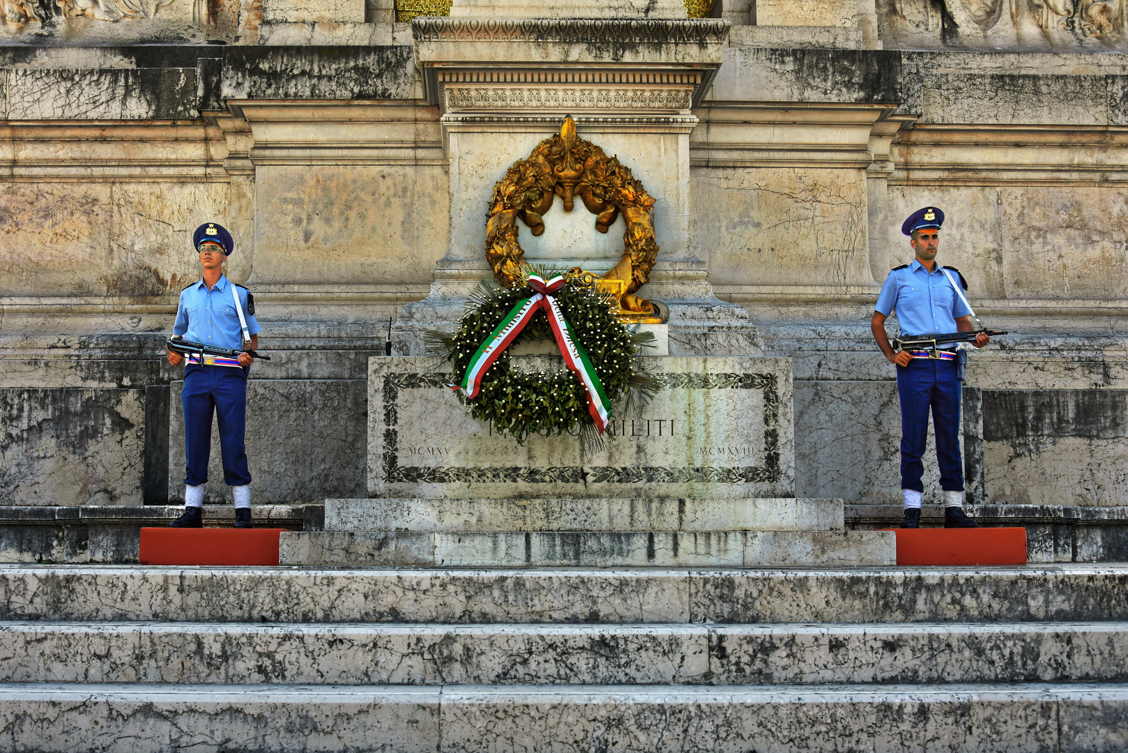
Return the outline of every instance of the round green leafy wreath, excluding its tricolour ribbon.
{"type": "MultiPolygon", "coordinates": [[[[525,268],[525,279],[535,272],[546,279],[556,274],[525,268]]],[[[625,326],[615,316],[618,300],[598,292],[593,279],[589,281],[585,277],[591,275],[570,274],[569,284],[555,294],[564,318],[588,352],[613,405],[623,399],[626,399],[625,408],[635,400],[649,401],[661,385],[658,378],[637,368],[635,357],[641,348],[654,347],[653,333],[625,326]]],[[[457,380],[505,315],[519,300],[531,295],[528,282],[511,289],[493,280],[483,281],[472,295],[453,334],[428,332],[429,352],[451,361],[457,380]]],[[[547,316],[538,312],[512,344],[544,339],[555,342],[547,316]]],[[[473,400],[461,392],[458,396],[469,408],[470,415],[491,421],[494,431],[508,434],[519,444],[525,444],[530,434],[550,436],[565,431],[578,434],[585,444],[601,441],[588,412],[584,387],[565,368],[552,374],[518,371],[511,367],[506,350],[485,373],[481,391],[473,400]]]]}

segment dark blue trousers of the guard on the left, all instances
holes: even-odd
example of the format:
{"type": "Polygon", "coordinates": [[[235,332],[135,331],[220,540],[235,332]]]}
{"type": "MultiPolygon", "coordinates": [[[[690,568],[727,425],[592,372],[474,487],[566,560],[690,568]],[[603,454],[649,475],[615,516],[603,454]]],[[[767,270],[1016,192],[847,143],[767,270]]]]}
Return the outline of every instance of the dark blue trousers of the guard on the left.
{"type": "Polygon", "coordinates": [[[184,370],[184,483],[199,487],[208,481],[211,456],[211,419],[219,420],[219,446],[223,481],[229,487],[250,483],[247,467],[247,374],[230,366],[190,366],[184,370]]]}

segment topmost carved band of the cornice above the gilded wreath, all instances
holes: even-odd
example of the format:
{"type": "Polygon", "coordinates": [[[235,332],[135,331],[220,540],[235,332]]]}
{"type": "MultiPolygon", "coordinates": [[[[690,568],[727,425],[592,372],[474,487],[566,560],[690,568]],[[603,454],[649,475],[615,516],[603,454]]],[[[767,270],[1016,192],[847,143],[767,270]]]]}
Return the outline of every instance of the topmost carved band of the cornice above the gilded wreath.
{"type": "Polygon", "coordinates": [[[729,21],[720,18],[416,18],[418,42],[564,42],[719,44],[729,40],[729,21]]]}

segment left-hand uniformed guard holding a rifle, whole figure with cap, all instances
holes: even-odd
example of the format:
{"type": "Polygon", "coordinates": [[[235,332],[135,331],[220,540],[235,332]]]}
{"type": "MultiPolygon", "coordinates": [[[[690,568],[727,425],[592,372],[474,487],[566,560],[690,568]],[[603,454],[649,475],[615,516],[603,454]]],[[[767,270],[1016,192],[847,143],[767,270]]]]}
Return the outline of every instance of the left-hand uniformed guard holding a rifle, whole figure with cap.
{"type": "MultiPolygon", "coordinates": [[[[233,350],[258,349],[262,327],[255,321],[255,299],[243,286],[223,274],[223,261],[235,249],[235,240],[215,222],[201,225],[193,236],[200,253],[203,277],[180,291],[173,332],[185,340],[233,350]]],[[[184,367],[184,450],[187,459],[184,478],[185,511],[170,525],[203,526],[204,485],[211,455],[212,414],[219,421],[223,480],[235,498],[235,527],[252,527],[250,470],[245,443],[247,426],[247,374],[254,358],[243,352],[238,358],[190,356],[168,351],[168,362],[184,367]]]]}

